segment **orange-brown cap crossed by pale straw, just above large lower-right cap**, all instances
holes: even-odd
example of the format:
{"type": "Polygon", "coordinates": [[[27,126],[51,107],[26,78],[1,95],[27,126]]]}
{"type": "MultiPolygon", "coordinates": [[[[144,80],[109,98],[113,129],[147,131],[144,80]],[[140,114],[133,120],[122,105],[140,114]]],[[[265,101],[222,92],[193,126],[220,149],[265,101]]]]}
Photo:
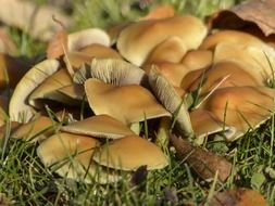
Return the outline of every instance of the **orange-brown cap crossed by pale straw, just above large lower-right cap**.
{"type": "MultiPolygon", "coordinates": [[[[197,90],[200,87],[201,81],[203,81],[200,88],[201,94],[210,92],[216,88],[263,86],[262,82],[258,82],[257,79],[248,73],[248,69],[243,69],[242,66],[234,62],[220,62],[214,64],[207,72],[204,72],[204,69],[200,69],[200,72],[201,74],[199,77],[188,89],[186,88],[187,92],[197,90]],[[202,78],[204,80],[202,80],[202,78]]],[[[198,72],[189,73],[186,79],[192,79],[193,77],[191,77],[191,75],[197,76],[198,72]]]]}

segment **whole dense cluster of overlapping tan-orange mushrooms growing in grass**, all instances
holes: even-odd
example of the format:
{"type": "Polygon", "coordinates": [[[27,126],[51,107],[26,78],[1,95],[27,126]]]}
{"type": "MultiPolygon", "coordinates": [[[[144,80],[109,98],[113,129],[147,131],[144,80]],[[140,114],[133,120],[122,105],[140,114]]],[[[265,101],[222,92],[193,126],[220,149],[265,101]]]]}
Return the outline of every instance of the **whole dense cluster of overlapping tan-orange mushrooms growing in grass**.
{"type": "Polygon", "coordinates": [[[10,75],[10,101],[13,68],[0,73],[0,126],[9,116],[11,138],[38,142],[52,171],[100,183],[164,168],[174,125],[198,142],[236,140],[273,114],[275,51],[246,33],[208,34],[191,15],[71,34],[62,55],[10,75]]]}

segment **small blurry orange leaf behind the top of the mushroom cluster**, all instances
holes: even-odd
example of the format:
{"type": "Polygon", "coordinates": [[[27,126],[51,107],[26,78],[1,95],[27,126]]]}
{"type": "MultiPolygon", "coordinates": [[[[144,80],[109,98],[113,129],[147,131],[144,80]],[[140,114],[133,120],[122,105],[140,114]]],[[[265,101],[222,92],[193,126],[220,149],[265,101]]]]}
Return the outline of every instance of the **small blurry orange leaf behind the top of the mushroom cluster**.
{"type": "Polygon", "coordinates": [[[150,13],[148,13],[146,16],[139,20],[158,20],[158,18],[172,17],[174,15],[175,15],[175,10],[172,5],[159,5],[158,8],[152,10],[150,13]]]}

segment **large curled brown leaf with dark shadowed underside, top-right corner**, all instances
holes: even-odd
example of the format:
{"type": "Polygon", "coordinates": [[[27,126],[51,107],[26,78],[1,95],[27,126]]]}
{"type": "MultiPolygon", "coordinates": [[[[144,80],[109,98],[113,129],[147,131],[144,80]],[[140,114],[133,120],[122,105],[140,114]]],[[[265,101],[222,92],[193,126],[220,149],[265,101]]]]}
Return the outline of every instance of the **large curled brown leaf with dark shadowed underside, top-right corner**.
{"type": "Polygon", "coordinates": [[[275,34],[274,11],[274,0],[252,0],[214,14],[210,20],[210,26],[247,29],[257,25],[265,36],[270,36],[275,34]]]}

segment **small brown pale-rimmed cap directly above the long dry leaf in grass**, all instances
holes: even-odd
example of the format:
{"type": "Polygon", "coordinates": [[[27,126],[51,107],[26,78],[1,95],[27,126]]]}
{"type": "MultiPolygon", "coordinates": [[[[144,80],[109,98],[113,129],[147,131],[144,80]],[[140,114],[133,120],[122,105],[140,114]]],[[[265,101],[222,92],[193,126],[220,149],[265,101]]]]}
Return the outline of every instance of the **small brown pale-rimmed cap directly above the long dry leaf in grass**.
{"type": "Polygon", "coordinates": [[[230,139],[235,133],[234,128],[226,126],[209,111],[195,110],[190,113],[190,119],[197,139],[217,132],[222,132],[227,139],[230,139]]]}

